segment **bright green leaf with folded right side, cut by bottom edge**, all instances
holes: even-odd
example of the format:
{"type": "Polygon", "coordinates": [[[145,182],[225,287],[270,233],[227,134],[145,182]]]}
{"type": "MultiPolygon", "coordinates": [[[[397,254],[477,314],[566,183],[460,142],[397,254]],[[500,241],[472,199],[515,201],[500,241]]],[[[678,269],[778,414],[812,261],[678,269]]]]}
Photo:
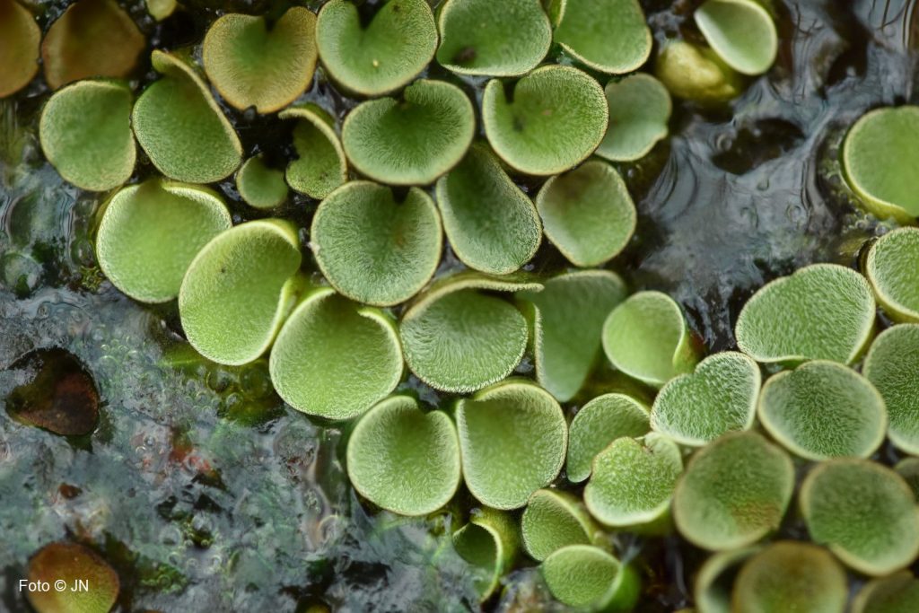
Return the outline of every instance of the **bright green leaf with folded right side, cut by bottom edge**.
{"type": "Polygon", "coordinates": [[[641,580],[630,566],[593,545],[562,547],[540,569],[552,596],[570,607],[630,611],[641,592],[641,580]]]}

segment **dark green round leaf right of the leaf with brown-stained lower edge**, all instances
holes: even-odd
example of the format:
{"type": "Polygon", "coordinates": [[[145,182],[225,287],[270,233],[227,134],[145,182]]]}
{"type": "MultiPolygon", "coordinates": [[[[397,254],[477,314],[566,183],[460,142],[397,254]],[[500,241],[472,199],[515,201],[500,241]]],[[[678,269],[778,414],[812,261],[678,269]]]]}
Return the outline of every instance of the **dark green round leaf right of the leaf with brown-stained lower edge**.
{"type": "Polygon", "coordinates": [[[886,466],[857,459],[824,462],[801,484],[800,507],[811,539],[859,573],[893,573],[919,555],[913,490],[886,466]]]}

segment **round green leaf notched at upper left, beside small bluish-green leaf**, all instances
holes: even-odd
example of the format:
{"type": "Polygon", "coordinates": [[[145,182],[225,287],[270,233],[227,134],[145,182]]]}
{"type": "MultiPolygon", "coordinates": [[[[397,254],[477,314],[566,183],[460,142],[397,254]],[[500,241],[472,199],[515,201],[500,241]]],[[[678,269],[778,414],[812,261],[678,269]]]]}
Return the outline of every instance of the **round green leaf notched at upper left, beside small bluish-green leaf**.
{"type": "Polygon", "coordinates": [[[537,68],[513,85],[493,79],[482,95],[485,136],[507,165],[528,175],[554,175],[580,164],[607,132],[603,88],[571,66],[537,68]]]}

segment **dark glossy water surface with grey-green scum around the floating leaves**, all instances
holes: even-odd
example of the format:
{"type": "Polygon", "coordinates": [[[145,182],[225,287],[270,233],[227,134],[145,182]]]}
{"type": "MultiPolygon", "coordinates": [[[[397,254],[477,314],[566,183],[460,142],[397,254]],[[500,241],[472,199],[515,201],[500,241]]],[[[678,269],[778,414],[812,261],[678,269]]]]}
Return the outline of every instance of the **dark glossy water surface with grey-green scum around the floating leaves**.
{"type": "MultiPolygon", "coordinates": [[[[41,3],[42,25],[67,4],[41,3]]],[[[658,44],[698,37],[691,15],[700,2],[642,4],[658,44]]],[[[199,41],[218,6],[260,12],[269,3],[187,6],[162,25],[142,3],[130,11],[152,47],[174,49],[199,41]]],[[[855,266],[860,246],[885,230],[853,208],[838,146],[869,108],[915,101],[913,0],[773,6],[780,48],[772,70],[730,105],[676,102],[671,137],[620,166],[640,221],[610,268],[632,289],[674,296],[709,350],[733,345],[740,306],[767,280],[811,262],[855,266]]],[[[344,115],[355,101],[318,72],[306,97],[344,115]]],[[[153,78],[145,61],[137,83],[153,78]]],[[[482,80],[461,85],[478,96],[482,80]]],[[[18,358],[62,347],[96,380],[101,420],[91,436],[58,437],[0,410],[0,610],[28,610],[18,579],[28,557],[57,539],[84,542],[113,563],[119,611],[476,610],[471,569],[448,539],[461,517],[369,511],[343,471],[346,433],[285,407],[264,360],[230,369],[195,358],[175,304],[138,304],[101,277],[91,233],[104,195],[62,183],[43,161],[35,125],[47,95],[37,79],[0,100],[0,408],[35,375],[28,364],[14,367],[18,358]]],[[[226,110],[247,153],[289,156],[289,125],[226,110]]],[[[152,174],[140,160],[135,179],[152,174]]],[[[236,221],[257,216],[232,182],[218,187],[236,221]]],[[[283,214],[306,226],[314,207],[292,195],[283,214]]],[[[563,266],[544,246],[533,268],[563,266]]],[[[446,253],[442,270],[454,267],[446,253]]],[[[414,380],[403,388],[446,402],[414,380]]],[[[798,530],[789,518],[787,533],[798,530]]],[[[644,575],[641,611],[690,604],[699,551],[675,538],[618,545],[644,575]]],[[[484,608],[564,610],[550,602],[525,563],[484,608]]]]}

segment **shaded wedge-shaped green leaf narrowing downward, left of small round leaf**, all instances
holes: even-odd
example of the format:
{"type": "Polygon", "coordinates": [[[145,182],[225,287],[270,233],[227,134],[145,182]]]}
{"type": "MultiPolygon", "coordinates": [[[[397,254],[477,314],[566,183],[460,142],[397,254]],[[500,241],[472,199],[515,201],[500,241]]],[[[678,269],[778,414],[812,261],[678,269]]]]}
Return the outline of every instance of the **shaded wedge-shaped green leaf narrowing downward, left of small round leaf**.
{"type": "Polygon", "coordinates": [[[536,380],[564,403],[581,389],[596,364],[603,323],[626,297],[626,286],[608,270],[581,270],[551,278],[543,287],[517,298],[534,309],[536,380]]]}

